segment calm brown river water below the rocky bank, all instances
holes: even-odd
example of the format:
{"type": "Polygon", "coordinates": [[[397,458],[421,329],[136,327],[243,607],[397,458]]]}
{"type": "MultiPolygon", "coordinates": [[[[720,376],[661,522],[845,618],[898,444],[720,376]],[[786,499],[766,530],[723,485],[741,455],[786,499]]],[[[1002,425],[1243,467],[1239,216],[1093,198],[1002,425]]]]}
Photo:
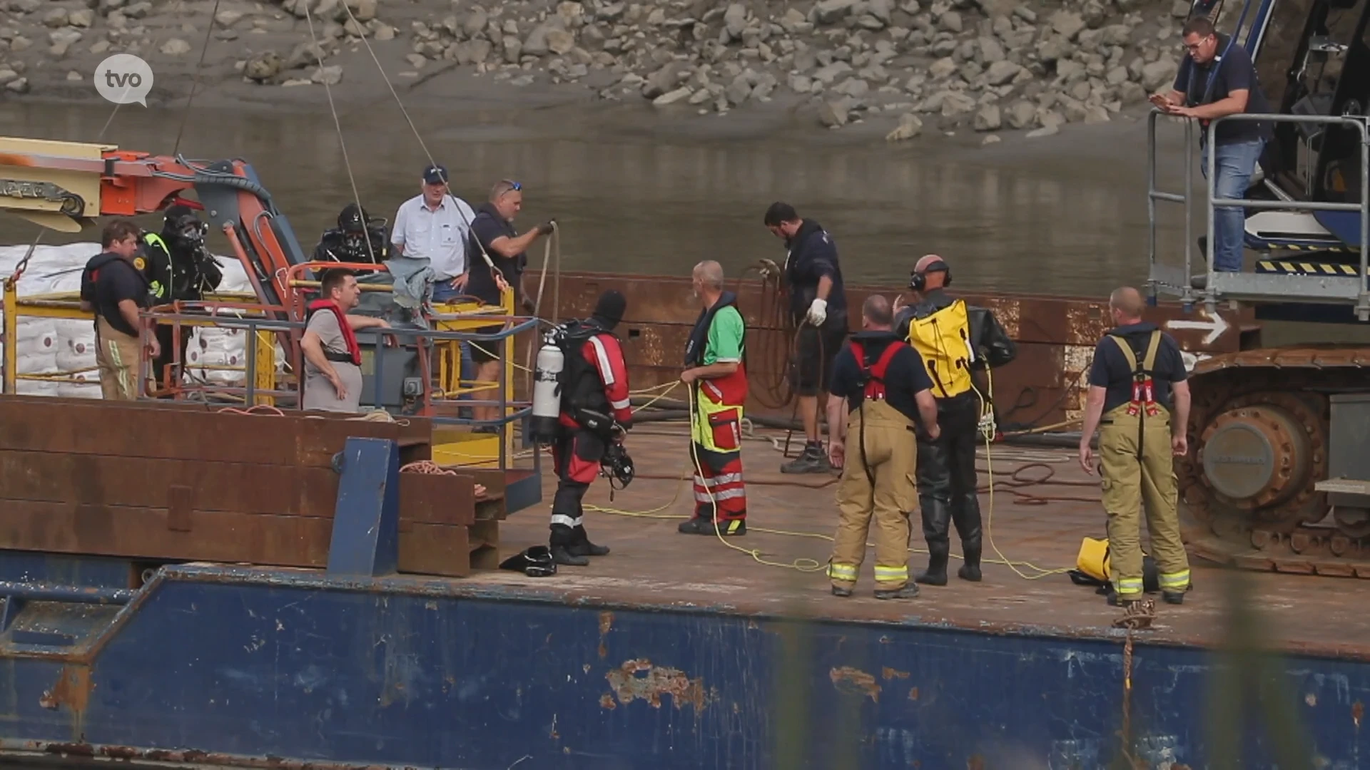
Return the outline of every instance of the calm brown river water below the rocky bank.
{"type": "MultiPolygon", "coordinates": [[[[470,111],[415,123],[452,171],[453,192],[473,206],[495,181],[521,181],[519,225],[555,216],[567,270],[684,275],[700,259],[718,259],[736,274],[759,258],[781,260],[781,244],[762,226],[767,204],[780,199],[833,233],[848,282],[901,285],[927,252],[947,256],[967,288],[1099,296],[1145,278],[1144,121],[1074,126],[1041,140],[1010,136],[980,148],[971,144],[978,136],[889,145],[878,134],[838,142],[825,132],[663,138],[641,122],[625,121],[618,132],[580,127],[592,110],[544,110],[532,129],[470,111]]],[[[170,153],[181,119],[179,108],[127,105],[111,119],[103,103],[10,103],[0,136],[170,153]]],[[[363,206],[393,219],[396,206],[418,192],[426,163],[414,133],[393,111],[362,110],[344,118],[344,136],[363,206]]],[[[352,199],[326,108],[196,110],[181,152],[251,162],[306,251],[352,199]]],[[[1178,169],[1167,171],[1171,188],[1182,182],[1178,169]]],[[[1174,207],[1162,227],[1167,248],[1180,248],[1182,232],[1174,207]]],[[[0,243],[27,243],[34,233],[27,222],[0,218],[0,243]]],[[[44,243],[70,240],[44,234],[44,243]]],[[[538,244],[530,259],[540,263],[541,253],[538,244]]]]}

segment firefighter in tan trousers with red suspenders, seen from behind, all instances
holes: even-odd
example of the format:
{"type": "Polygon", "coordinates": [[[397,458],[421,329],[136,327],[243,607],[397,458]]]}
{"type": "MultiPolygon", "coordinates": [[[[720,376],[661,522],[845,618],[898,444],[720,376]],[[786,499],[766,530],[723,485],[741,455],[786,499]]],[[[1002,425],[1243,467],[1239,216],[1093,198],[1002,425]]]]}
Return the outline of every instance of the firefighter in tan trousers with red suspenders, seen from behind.
{"type": "Polygon", "coordinates": [[[851,596],[856,586],[871,518],[875,597],[918,596],[918,585],[908,580],[908,515],[918,507],[915,429],[922,423],[934,440],[941,432],[922,358],[895,334],[892,323],[889,300],[871,296],[862,306],[863,330],[833,360],[827,452],[843,477],[827,577],[837,596],[851,596]]]}

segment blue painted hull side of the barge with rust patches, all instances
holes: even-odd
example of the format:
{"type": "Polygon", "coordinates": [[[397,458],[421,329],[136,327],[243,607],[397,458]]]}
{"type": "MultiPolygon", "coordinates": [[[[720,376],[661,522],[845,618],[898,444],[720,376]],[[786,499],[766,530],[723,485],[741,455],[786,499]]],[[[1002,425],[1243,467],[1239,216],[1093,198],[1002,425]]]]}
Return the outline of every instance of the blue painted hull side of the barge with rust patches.
{"type": "MultiPolygon", "coordinates": [[[[1115,759],[1121,730],[1121,641],[1041,629],[795,625],[193,564],[163,567],[122,607],[71,607],[23,623],[77,636],[70,652],[4,644],[7,752],[477,770],[1095,769],[1115,759]]],[[[1137,643],[1141,766],[1211,763],[1212,666],[1196,648],[1137,643]]],[[[1359,767],[1370,665],[1281,666],[1317,766],[1359,767]]],[[[1265,732],[1247,730],[1243,767],[1274,767],[1265,732]]]]}

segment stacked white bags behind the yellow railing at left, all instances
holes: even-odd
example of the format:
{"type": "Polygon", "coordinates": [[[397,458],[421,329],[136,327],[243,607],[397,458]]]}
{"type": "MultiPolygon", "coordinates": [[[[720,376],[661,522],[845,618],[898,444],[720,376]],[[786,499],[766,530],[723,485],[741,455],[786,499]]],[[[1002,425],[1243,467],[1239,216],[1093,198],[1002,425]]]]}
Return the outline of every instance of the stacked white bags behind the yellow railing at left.
{"type": "MultiPolygon", "coordinates": [[[[0,280],[14,273],[29,247],[0,247],[0,280]]],[[[19,278],[19,296],[45,293],[77,293],[81,271],[99,244],[40,245],[19,278]]],[[[234,258],[218,258],[223,269],[222,292],[251,292],[242,264],[234,258]]],[[[3,318],[0,308],[0,318],[3,318]]],[[[206,366],[245,366],[244,340],[248,334],[238,329],[208,329],[182,326],[182,334],[192,334],[186,348],[186,369],[192,378],[215,384],[241,384],[242,371],[208,370],[206,366]]],[[[21,316],[18,325],[19,374],[51,374],[51,380],[21,380],[19,393],[63,397],[100,397],[100,375],[95,362],[95,325],[90,321],[21,316]],[[63,373],[63,374],[59,374],[63,373]]],[[[0,355],[4,343],[0,343],[0,355]]],[[[275,367],[281,371],[285,353],[275,345],[275,367]]],[[[266,362],[258,362],[263,366],[266,362]]]]}

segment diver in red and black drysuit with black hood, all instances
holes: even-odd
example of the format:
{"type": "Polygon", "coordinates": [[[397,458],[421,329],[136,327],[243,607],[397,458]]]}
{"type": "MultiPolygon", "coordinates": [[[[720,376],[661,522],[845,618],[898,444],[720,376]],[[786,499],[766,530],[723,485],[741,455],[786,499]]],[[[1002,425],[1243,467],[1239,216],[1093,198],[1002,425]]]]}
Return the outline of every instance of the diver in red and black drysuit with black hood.
{"type": "Polygon", "coordinates": [[[548,543],[558,564],[584,567],[590,563],[588,556],[608,554],[607,547],[590,543],[581,500],[599,475],[610,444],[622,441],[623,432],[633,426],[627,364],[612,334],[626,307],[623,295],[611,289],[600,295],[593,315],[567,325],[562,414],[552,443],[558,482],[548,543]]]}

